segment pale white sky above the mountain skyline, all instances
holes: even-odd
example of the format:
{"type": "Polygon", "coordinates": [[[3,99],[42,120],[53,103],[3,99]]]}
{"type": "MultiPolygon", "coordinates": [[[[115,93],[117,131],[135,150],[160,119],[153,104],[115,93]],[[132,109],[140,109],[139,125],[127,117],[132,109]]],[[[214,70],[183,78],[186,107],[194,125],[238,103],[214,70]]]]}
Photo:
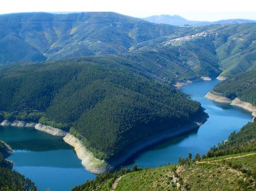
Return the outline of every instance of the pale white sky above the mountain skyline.
{"type": "Polygon", "coordinates": [[[178,14],[189,20],[256,20],[256,0],[1,0],[0,14],[35,11],[114,11],[133,17],[178,14]]]}

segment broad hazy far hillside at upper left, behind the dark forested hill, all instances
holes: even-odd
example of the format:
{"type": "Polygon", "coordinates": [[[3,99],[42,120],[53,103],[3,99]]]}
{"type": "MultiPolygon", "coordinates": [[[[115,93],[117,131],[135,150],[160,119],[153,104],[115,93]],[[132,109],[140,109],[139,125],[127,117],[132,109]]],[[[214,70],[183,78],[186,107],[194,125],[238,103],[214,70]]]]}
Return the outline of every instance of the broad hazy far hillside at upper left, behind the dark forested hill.
{"type": "Polygon", "coordinates": [[[0,63],[122,53],[135,43],[175,30],[175,26],[107,12],[4,14],[0,16],[0,63]]]}

